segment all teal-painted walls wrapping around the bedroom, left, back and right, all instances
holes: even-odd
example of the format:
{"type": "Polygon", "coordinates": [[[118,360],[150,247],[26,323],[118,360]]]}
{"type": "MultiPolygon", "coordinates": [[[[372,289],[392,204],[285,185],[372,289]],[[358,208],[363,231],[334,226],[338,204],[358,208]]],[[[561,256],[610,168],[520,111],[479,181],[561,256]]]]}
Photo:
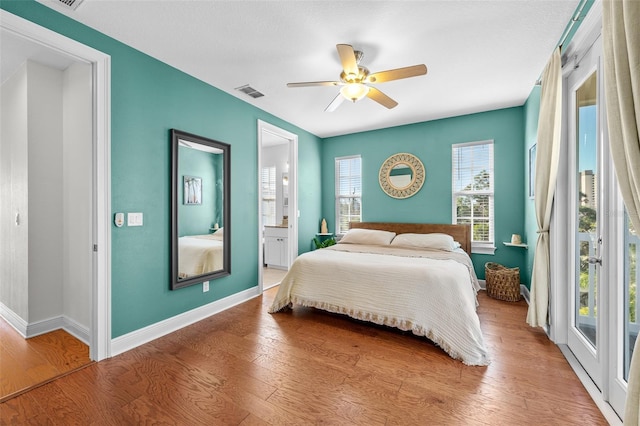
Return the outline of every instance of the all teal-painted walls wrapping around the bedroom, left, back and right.
{"type": "Polygon", "coordinates": [[[145,215],[143,227],[112,227],[112,337],[257,284],[258,119],[299,137],[300,253],[311,249],[323,217],[334,229],[335,157],[362,156],[363,220],[451,223],[451,145],[493,139],[497,250],[472,259],[480,278],[493,261],[519,266],[529,285],[537,227],[528,151],[536,140],[538,87],[522,107],[321,140],[33,0],[3,0],[0,8],[111,56],[112,211],[145,215]],[[212,282],[208,293],[199,286],[169,290],[171,128],[231,145],[232,274],[212,282]],[[417,155],[427,174],[420,192],[405,200],[378,184],[380,165],[397,152],[417,155]],[[504,246],[512,233],[523,235],[529,250],[504,246]]]}

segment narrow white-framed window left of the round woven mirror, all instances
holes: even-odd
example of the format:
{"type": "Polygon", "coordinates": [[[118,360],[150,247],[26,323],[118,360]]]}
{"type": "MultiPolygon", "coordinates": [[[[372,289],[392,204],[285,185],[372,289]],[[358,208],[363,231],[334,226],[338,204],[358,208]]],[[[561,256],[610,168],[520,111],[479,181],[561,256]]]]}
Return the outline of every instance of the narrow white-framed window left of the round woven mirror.
{"type": "Polygon", "coordinates": [[[336,234],[345,234],[349,222],[362,220],[362,160],[336,158],[336,234]]]}

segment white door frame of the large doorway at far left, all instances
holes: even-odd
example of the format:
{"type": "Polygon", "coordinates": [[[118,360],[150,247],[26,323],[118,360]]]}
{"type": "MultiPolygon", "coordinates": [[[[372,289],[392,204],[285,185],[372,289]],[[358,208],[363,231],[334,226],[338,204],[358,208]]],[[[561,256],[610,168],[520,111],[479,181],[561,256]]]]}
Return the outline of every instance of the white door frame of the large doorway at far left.
{"type": "Polygon", "coordinates": [[[0,9],[0,27],[47,49],[91,65],[93,266],[89,356],[111,356],[111,57],[0,9]]]}

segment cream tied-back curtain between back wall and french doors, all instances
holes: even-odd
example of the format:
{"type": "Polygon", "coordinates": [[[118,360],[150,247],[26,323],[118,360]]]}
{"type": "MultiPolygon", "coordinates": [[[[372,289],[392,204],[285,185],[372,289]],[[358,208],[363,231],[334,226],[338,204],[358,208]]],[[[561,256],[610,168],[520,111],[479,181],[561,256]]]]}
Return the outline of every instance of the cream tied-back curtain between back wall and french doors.
{"type": "Polygon", "coordinates": [[[535,210],[538,242],[533,260],[531,295],[527,323],[547,324],[549,312],[549,224],[556,188],[562,124],[562,67],[557,48],[542,73],[538,146],[536,148],[535,210]]]}

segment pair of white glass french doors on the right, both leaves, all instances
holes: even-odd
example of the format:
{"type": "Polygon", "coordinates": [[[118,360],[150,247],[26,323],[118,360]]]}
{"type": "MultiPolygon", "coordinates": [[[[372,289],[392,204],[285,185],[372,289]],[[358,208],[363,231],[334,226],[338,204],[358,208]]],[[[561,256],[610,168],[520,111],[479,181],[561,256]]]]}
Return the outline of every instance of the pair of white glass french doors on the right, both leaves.
{"type": "Polygon", "coordinates": [[[640,238],[609,153],[601,64],[600,37],[566,79],[567,344],[621,417],[640,331],[640,238]]]}

